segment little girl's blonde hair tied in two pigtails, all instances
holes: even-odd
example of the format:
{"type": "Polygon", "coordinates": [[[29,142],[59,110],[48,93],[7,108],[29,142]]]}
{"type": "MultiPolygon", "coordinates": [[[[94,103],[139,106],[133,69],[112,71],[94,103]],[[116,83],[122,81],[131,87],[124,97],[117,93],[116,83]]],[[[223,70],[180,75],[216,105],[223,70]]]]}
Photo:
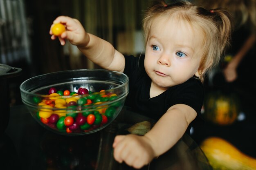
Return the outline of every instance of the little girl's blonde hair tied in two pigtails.
{"type": "Polygon", "coordinates": [[[218,65],[220,56],[229,42],[231,33],[231,15],[223,9],[208,11],[188,1],[176,1],[166,4],[163,0],[156,1],[146,11],[143,20],[145,42],[147,43],[150,34],[150,27],[153,20],[159,16],[179,16],[179,19],[199,27],[204,35],[203,54],[199,70],[204,71],[200,77],[203,81],[204,75],[214,66],[218,65]]]}

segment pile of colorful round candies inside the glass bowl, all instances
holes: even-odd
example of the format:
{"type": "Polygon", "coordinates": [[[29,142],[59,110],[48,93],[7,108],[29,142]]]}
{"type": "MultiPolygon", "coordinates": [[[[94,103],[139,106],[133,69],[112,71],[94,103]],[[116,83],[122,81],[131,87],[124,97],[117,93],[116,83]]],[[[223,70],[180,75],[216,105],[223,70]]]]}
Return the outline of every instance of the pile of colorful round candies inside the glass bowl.
{"type": "Polygon", "coordinates": [[[40,109],[37,117],[54,130],[63,133],[80,133],[97,129],[116,114],[119,102],[104,104],[117,99],[115,93],[101,90],[92,93],[86,88],[77,92],[57,91],[50,88],[47,97],[34,97],[40,109]]]}

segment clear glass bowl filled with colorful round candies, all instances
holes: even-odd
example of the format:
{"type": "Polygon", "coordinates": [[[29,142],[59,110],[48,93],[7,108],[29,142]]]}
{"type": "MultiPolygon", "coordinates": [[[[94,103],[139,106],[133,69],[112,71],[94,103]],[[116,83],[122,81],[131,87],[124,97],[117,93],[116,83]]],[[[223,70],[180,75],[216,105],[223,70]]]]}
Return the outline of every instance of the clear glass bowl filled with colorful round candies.
{"type": "Polygon", "coordinates": [[[44,128],[85,135],[108,126],[128,95],[128,77],[117,71],[81,69],[38,75],[22,82],[22,102],[44,128]]]}

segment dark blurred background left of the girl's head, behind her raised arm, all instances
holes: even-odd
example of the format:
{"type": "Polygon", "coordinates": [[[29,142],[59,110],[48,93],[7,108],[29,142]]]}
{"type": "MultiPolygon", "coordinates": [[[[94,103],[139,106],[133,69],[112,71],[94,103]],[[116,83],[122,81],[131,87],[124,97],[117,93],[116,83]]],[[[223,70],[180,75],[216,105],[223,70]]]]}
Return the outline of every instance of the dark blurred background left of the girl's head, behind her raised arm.
{"type": "Polygon", "coordinates": [[[144,48],[143,11],[150,0],[0,0],[0,63],[22,68],[9,79],[10,105],[21,104],[19,85],[30,77],[81,68],[99,68],[69,43],[51,40],[49,29],[59,15],[80,20],[86,31],[122,53],[144,48]]]}

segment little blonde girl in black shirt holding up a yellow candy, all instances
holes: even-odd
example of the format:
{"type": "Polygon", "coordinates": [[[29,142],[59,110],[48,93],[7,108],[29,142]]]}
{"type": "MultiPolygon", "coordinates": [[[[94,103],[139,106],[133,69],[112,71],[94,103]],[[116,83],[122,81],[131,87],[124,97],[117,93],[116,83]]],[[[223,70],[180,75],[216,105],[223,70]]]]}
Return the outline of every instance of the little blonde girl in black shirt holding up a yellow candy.
{"type": "Polygon", "coordinates": [[[144,136],[115,137],[115,159],[134,168],[162,155],[200,122],[202,80],[218,63],[231,29],[230,15],[222,9],[207,11],[186,1],[158,1],[143,21],[145,56],[134,57],[85,32],[76,19],[60,16],[53,23],[66,26],[58,37],[62,45],[69,40],[95,64],[128,75],[126,106],[158,120],[144,136]]]}

